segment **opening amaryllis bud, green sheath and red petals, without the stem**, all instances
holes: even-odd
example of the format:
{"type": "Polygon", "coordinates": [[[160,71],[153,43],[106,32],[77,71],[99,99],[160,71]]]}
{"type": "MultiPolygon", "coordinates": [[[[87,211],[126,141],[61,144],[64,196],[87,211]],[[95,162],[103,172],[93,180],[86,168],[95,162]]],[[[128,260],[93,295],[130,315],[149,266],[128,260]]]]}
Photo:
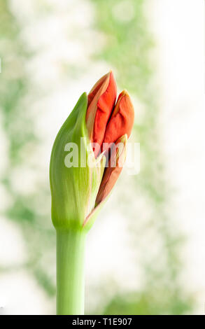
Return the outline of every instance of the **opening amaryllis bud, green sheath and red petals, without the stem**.
{"type": "Polygon", "coordinates": [[[57,229],[88,230],[122,171],[134,109],[126,91],[115,104],[116,93],[109,72],[88,97],[80,97],[57,134],[50,159],[52,222],[57,229]],[[111,144],[110,152],[104,143],[111,144]],[[73,163],[68,165],[67,157],[73,163]]]}

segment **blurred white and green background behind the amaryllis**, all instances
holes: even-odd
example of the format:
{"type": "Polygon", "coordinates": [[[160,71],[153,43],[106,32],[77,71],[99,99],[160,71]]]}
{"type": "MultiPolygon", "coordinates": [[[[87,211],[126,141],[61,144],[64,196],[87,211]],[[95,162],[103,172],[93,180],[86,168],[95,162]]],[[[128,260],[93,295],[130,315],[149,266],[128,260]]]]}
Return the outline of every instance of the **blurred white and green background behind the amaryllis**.
{"type": "Polygon", "coordinates": [[[86,314],[204,314],[204,1],[1,0],[0,312],[55,314],[53,141],[113,69],[141,171],[87,237],[86,314]]]}

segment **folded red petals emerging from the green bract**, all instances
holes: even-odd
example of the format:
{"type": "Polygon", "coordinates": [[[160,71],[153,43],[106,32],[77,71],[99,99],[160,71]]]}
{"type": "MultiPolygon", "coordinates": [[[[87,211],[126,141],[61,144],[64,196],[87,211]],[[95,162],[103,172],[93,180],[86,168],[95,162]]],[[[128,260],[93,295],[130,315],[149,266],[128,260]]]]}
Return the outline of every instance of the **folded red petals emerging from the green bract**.
{"type": "Polygon", "coordinates": [[[122,171],[127,138],[134,124],[134,108],[129,94],[123,90],[115,104],[116,92],[113,73],[109,72],[97,81],[88,94],[86,123],[90,141],[97,144],[93,146],[94,156],[97,158],[105,151],[108,163],[97,194],[96,206],[111,192],[122,171]]]}

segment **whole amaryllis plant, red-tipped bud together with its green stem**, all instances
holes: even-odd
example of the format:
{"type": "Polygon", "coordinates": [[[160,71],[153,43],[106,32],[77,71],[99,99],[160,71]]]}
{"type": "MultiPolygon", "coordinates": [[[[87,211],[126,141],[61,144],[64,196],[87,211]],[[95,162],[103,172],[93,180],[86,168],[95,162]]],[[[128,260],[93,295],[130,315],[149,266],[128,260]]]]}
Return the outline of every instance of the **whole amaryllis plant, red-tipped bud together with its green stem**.
{"type": "Polygon", "coordinates": [[[125,162],[134,109],[127,91],[120,93],[117,102],[116,97],[115,79],[109,72],[88,96],[80,96],[52,147],[50,188],[52,223],[57,230],[57,314],[83,314],[85,233],[125,162]]]}

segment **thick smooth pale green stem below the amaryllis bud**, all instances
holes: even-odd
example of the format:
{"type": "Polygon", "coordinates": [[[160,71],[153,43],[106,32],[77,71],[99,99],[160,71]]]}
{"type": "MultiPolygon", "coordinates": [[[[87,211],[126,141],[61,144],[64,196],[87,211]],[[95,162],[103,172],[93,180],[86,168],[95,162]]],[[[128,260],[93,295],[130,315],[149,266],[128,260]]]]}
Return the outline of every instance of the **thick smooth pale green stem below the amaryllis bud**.
{"type": "Polygon", "coordinates": [[[85,233],[57,230],[57,314],[84,313],[85,233]]]}

